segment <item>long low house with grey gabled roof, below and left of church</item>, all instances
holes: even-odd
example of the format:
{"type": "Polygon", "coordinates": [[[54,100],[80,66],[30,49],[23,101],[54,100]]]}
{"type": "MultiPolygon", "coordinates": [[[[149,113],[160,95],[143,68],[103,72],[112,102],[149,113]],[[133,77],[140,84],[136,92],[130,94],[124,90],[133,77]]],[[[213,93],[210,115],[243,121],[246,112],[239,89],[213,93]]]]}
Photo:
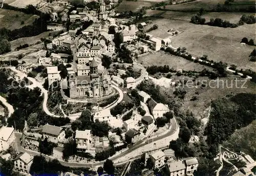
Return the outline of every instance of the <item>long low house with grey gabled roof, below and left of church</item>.
{"type": "Polygon", "coordinates": [[[61,139],[65,138],[65,130],[59,126],[45,124],[42,127],[42,136],[49,141],[58,143],[61,139]]]}

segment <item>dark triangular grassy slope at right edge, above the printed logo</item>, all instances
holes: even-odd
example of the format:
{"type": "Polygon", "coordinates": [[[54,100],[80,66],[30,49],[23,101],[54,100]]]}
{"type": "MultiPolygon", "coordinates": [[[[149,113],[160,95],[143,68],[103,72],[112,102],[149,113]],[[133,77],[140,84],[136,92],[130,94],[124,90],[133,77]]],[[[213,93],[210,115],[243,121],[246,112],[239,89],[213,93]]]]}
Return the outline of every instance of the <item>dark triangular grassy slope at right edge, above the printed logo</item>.
{"type": "Polygon", "coordinates": [[[256,159],[256,120],[251,124],[234,132],[230,139],[223,143],[224,147],[234,152],[245,152],[256,159]]]}

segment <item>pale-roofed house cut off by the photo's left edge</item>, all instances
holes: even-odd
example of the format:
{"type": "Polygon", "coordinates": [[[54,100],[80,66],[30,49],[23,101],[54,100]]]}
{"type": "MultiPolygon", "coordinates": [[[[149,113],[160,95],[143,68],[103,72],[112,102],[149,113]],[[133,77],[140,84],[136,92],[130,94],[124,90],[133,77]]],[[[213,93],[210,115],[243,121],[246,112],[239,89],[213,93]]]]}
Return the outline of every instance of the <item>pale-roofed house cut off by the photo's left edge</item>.
{"type": "Polygon", "coordinates": [[[15,141],[14,128],[3,126],[0,128],[0,151],[7,150],[15,141]]]}

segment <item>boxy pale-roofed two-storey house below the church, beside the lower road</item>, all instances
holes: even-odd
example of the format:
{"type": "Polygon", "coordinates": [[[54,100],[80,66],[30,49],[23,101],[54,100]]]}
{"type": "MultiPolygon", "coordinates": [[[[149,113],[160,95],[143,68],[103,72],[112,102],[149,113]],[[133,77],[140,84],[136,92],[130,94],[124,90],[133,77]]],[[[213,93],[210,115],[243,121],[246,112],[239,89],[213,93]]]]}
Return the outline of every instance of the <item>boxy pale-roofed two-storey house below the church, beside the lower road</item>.
{"type": "Polygon", "coordinates": [[[77,144],[77,151],[85,152],[86,150],[90,149],[92,142],[91,130],[76,130],[75,140],[77,144]]]}

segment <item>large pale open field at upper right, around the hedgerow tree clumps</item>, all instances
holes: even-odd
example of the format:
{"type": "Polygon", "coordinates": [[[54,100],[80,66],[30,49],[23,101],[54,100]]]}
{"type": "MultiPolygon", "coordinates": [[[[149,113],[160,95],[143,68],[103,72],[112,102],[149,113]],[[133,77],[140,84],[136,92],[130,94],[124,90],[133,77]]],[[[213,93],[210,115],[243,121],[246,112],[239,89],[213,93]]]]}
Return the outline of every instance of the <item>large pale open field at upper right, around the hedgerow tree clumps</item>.
{"type": "MultiPolygon", "coordinates": [[[[234,23],[242,14],[245,13],[207,13],[204,17],[206,19],[222,17],[222,19],[234,23]]],[[[255,41],[255,24],[243,25],[238,28],[195,25],[189,23],[191,15],[193,13],[166,12],[161,15],[164,17],[162,19],[151,18],[153,25],[157,24],[159,28],[149,33],[163,38],[168,37],[169,29],[176,29],[180,32],[171,38],[173,47],[185,47],[187,52],[195,56],[208,55],[210,60],[223,61],[229,65],[236,64],[239,69],[255,70],[255,62],[249,61],[248,57],[254,47],[240,44],[243,37],[252,38],[255,41]]]]}

